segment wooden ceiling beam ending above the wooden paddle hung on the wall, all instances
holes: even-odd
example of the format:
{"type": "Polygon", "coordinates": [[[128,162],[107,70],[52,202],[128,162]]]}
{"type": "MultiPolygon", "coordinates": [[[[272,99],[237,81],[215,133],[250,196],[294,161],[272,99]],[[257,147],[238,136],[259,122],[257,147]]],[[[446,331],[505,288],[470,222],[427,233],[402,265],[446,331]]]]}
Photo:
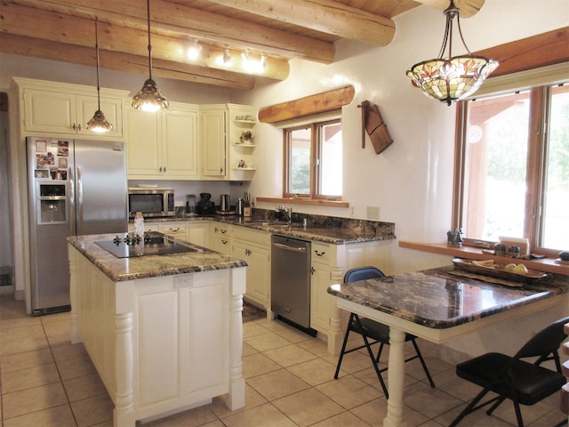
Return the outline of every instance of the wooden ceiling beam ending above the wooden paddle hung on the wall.
{"type": "Polygon", "coordinates": [[[385,46],[395,36],[395,22],[333,0],[210,0],[350,40],[385,46]]]}

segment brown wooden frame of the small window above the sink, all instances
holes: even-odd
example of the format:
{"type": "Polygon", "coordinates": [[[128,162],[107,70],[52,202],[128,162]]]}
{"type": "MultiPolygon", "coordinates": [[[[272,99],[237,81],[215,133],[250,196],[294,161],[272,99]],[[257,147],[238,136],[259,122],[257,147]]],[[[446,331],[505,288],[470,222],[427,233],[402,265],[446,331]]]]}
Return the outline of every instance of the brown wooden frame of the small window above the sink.
{"type": "MultiPolygon", "coordinates": [[[[303,125],[285,127],[283,129],[283,198],[301,198],[306,200],[329,200],[341,201],[342,195],[321,194],[322,182],[322,149],[323,149],[323,128],[326,125],[341,125],[341,117],[334,117],[322,121],[314,121],[303,125]],[[310,129],[310,185],[309,194],[293,193],[290,188],[292,172],[292,143],[291,135],[293,131],[310,129]]],[[[343,145],[343,144],[342,144],[343,145]]]]}

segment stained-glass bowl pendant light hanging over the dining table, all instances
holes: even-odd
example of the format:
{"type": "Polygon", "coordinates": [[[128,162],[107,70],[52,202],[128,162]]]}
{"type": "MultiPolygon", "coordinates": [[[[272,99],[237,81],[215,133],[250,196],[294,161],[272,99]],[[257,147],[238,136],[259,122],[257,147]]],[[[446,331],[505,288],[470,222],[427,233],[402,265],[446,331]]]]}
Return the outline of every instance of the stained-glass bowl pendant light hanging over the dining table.
{"type": "Polygon", "coordinates": [[[445,37],[438,58],[423,60],[413,65],[407,70],[407,77],[411,78],[412,84],[421,89],[421,92],[429,98],[451,105],[454,101],[475,93],[485,78],[498,67],[498,62],[470,53],[462,37],[460,10],[454,5],[453,0],[444,13],[446,15],[445,37]],[[453,57],[454,17],[456,17],[462,44],[469,52],[468,55],[453,57]],[[447,44],[448,56],[444,57],[447,44]]]}

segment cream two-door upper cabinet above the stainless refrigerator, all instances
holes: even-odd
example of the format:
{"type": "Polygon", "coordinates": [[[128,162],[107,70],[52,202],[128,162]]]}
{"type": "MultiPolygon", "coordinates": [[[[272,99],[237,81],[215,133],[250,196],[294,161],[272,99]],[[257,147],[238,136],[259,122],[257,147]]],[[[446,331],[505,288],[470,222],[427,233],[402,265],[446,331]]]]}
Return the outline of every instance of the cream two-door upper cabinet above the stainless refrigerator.
{"type": "Polygon", "coordinates": [[[25,134],[66,134],[76,137],[120,139],[123,137],[123,99],[126,91],[100,90],[100,109],[113,125],[108,133],[86,129],[99,109],[97,88],[68,85],[28,78],[14,78],[23,106],[22,130],[25,134]]]}

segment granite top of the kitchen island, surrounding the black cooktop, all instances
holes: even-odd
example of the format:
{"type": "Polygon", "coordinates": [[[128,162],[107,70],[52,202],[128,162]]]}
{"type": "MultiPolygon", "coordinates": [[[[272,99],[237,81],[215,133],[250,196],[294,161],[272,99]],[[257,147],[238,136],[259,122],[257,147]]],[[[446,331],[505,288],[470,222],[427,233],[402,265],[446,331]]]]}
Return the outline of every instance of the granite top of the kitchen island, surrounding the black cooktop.
{"type": "Polygon", "coordinates": [[[247,262],[197,245],[192,246],[199,248],[199,252],[116,258],[95,243],[99,240],[112,240],[115,237],[116,234],[93,234],[67,239],[70,245],[115,282],[247,266],[247,262]]]}

